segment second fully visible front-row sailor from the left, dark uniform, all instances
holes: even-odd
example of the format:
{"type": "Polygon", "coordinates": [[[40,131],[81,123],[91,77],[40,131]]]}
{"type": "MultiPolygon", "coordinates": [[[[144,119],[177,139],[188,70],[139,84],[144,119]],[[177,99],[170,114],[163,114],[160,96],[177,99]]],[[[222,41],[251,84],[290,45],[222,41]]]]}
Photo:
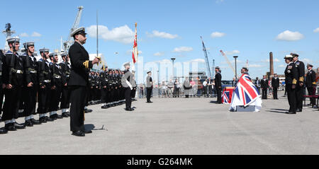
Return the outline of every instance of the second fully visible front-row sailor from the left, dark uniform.
{"type": "Polygon", "coordinates": [[[36,97],[39,88],[38,71],[39,64],[37,59],[33,56],[35,51],[34,42],[26,42],[23,44],[26,49],[26,59],[29,60],[30,68],[28,69],[30,76],[26,78],[26,86],[23,88],[23,102],[25,114],[25,126],[33,127],[33,124],[40,124],[38,120],[33,118],[35,115],[36,97]]]}

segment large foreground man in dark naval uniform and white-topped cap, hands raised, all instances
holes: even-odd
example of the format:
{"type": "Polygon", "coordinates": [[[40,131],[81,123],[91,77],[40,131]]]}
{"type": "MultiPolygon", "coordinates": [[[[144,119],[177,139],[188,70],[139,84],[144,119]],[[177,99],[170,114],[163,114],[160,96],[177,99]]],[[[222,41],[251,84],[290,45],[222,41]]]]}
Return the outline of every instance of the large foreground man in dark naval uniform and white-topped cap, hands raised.
{"type": "Polygon", "coordinates": [[[91,133],[91,131],[85,131],[84,128],[84,107],[86,106],[89,85],[89,70],[101,59],[96,57],[93,61],[89,60],[89,53],[83,47],[86,42],[86,33],[83,27],[74,30],[71,35],[75,42],[69,48],[69,58],[72,65],[68,83],[71,91],[70,127],[72,135],[85,136],[85,134],[91,133]]]}

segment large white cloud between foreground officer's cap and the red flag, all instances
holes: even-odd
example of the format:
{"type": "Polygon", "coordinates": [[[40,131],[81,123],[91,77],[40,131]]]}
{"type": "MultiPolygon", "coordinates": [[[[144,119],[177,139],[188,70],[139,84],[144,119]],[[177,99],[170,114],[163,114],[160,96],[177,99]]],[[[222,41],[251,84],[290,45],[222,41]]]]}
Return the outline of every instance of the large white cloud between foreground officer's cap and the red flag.
{"type": "MultiPolygon", "coordinates": [[[[86,28],[86,31],[90,37],[96,37],[96,25],[91,25],[86,28]]],[[[134,32],[128,28],[128,25],[113,28],[112,30],[108,30],[105,25],[99,25],[99,38],[129,44],[134,42],[134,32]]]]}

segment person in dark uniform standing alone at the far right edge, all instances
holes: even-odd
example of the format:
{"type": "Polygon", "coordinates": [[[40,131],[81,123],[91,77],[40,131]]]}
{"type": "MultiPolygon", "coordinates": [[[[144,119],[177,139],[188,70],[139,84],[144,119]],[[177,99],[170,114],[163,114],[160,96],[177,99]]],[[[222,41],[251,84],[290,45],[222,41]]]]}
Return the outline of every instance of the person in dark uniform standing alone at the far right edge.
{"type": "MultiPolygon", "coordinates": [[[[306,87],[308,91],[308,95],[315,95],[315,90],[317,87],[317,84],[315,83],[315,71],[313,71],[313,65],[312,64],[307,64],[307,76],[306,76],[306,87]]],[[[315,105],[315,99],[310,98],[310,104],[315,105]]]]}

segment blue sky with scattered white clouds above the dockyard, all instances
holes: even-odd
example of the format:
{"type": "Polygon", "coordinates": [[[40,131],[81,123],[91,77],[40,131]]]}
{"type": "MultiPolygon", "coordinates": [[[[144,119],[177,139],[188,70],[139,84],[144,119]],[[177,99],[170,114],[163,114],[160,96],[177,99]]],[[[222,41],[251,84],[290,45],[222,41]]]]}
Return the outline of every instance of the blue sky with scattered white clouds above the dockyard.
{"type": "MultiPolygon", "coordinates": [[[[145,63],[176,57],[176,62],[199,62],[199,69],[205,70],[202,35],[209,60],[215,59],[216,66],[221,66],[224,79],[233,78],[233,71],[220,49],[230,60],[238,55],[238,66],[244,66],[248,59],[253,77],[268,71],[269,52],[274,53],[278,74],[283,74],[283,57],[290,52],[298,52],[303,61],[315,67],[319,64],[319,29],[315,31],[319,28],[319,1],[315,0],[15,2],[15,8],[1,9],[0,27],[4,29],[6,23],[11,23],[22,42],[34,40],[38,49],[59,49],[60,37],[67,39],[77,6],[84,6],[80,25],[91,27],[85,47],[89,53],[96,53],[94,26],[98,10],[99,51],[111,68],[122,68],[123,62],[131,61],[133,42],[130,40],[135,22],[138,49],[145,63]]],[[[1,35],[3,44],[4,39],[1,35]]]]}

